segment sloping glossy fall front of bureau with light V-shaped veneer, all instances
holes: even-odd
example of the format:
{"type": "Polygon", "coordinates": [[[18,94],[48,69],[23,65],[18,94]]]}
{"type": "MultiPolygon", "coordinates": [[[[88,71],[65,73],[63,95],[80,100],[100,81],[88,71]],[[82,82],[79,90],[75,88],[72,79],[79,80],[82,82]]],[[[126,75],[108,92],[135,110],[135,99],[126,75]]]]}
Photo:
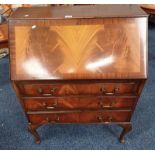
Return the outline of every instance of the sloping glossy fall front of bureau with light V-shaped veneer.
{"type": "Polygon", "coordinates": [[[74,21],[15,23],[12,79],[146,78],[145,18],[74,21]]]}

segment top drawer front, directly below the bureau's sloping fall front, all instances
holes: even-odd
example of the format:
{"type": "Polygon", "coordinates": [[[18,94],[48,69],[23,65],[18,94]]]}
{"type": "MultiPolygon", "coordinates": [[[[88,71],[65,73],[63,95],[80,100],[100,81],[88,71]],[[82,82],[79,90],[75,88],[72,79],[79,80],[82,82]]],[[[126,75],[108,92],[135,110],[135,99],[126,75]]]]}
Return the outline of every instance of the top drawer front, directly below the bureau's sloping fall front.
{"type": "Polygon", "coordinates": [[[26,96],[59,95],[129,95],[136,94],[135,83],[93,83],[93,84],[25,84],[21,91],[26,96]]]}

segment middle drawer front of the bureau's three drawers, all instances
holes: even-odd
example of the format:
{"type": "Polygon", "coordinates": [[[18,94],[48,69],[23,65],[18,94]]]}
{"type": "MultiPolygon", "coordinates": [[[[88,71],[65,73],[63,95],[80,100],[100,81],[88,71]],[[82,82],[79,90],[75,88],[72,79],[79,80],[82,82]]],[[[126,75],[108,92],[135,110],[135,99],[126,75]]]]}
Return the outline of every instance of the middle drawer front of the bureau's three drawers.
{"type": "Polygon", "coordinates": [[[62,110],[62,109],[104,109],[104,108],[132,108],[135,98],[120,97],[66,97],[51,99],[25,99],[27,111],[62,110]]]}

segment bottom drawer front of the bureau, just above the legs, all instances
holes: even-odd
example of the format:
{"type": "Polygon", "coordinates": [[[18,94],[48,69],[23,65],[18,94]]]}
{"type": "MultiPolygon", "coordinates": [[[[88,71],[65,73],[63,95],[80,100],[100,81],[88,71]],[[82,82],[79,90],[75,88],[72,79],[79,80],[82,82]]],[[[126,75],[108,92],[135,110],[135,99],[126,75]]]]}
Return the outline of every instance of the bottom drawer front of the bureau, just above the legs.
{"type": "Polygon", "coordinates": [[[128,122],[130,111],[105,111],[57,114],[29,114],[32,124],[46,123],[112,123],[128,122]]]}

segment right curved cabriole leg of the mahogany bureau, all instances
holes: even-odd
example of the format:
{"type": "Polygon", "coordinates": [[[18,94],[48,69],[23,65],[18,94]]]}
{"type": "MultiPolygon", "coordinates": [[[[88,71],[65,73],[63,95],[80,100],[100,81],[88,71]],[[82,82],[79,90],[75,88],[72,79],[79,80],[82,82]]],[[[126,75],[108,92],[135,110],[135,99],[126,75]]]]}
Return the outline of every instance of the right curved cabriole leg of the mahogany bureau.
{"type": "Polygon", "coordinates": [[[119,137],[119,141],[121,143],[125,143],[124,136],[132,130],[132,125],[131,123],[129,123],[129,124],[120,124],[120,126],[123,128],[123,131],[119,137]]]}

